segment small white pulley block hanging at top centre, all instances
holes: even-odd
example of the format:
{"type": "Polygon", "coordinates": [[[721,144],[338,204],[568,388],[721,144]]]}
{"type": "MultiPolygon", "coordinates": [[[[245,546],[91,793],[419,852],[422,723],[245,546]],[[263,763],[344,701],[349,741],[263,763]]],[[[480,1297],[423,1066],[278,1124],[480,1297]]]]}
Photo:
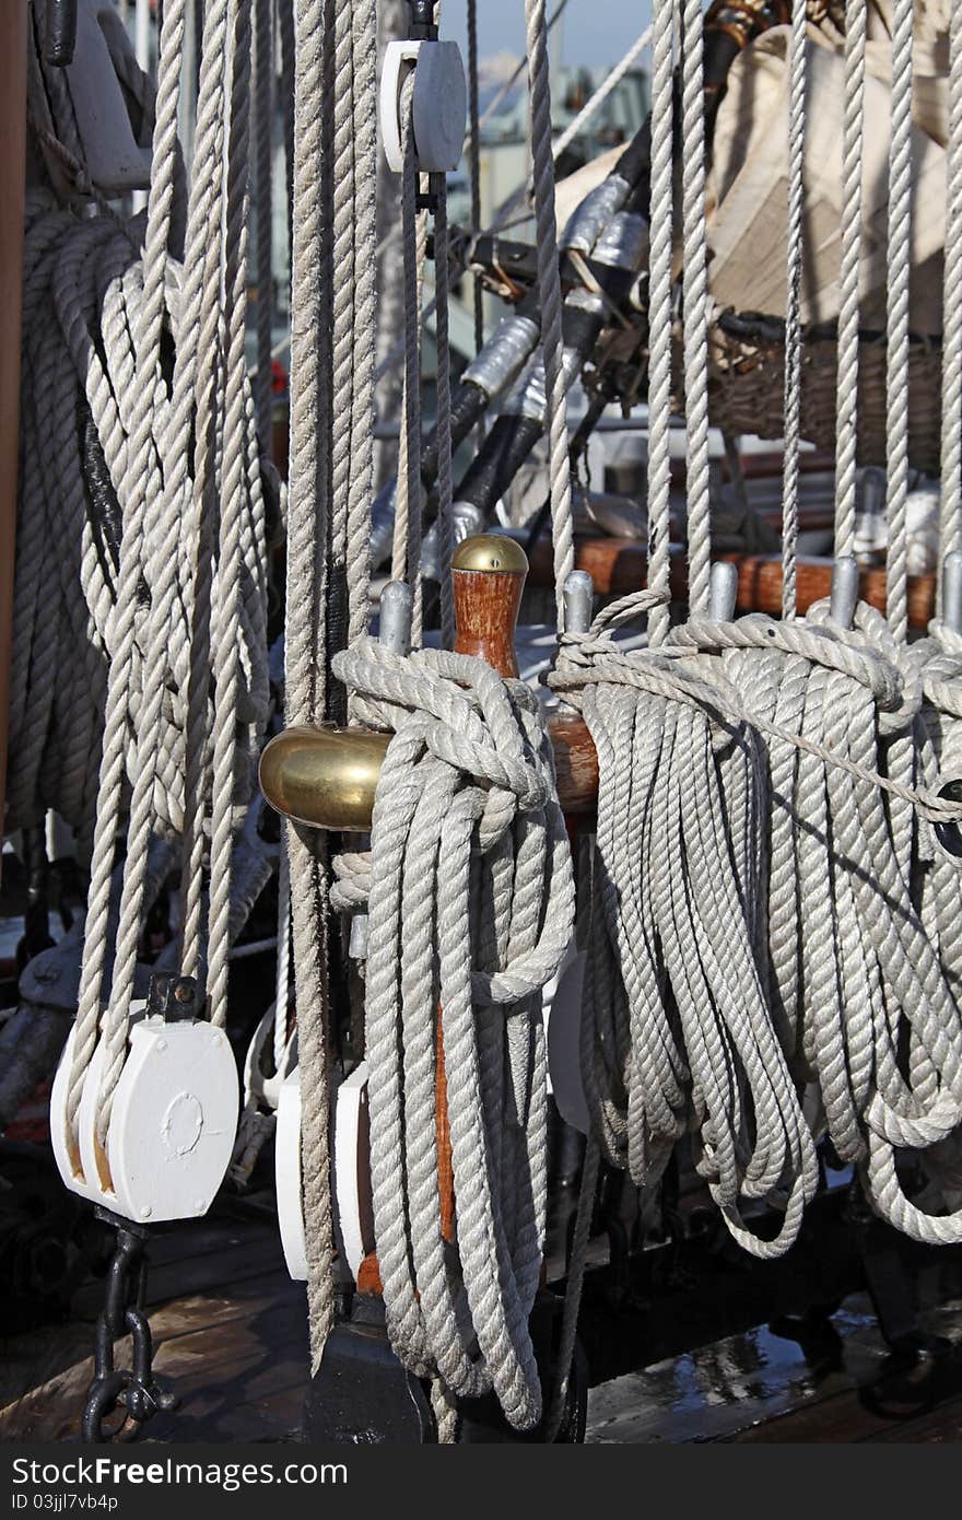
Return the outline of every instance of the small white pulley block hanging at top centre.
{"type": "Polygon", "coordinates": [[[415,71],[412,129],[421,173],[450,173],[464,154],[468,87],[457,43],[389,43],[381,70],[381,143],[388,166],[404,167],[401,87],[415,71]]]}

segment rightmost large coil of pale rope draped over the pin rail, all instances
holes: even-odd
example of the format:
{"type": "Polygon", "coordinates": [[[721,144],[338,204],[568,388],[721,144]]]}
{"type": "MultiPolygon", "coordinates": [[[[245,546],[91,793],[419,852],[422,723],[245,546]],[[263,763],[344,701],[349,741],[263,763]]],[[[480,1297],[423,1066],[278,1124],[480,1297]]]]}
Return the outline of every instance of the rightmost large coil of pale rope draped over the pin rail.
{"type": "Polygon", "coordinates": [[[816,603],[801,622],[701,620],[672,640],[722,651],[737,708],[766,736],[781,1046],[799,1079],[818,1081],[833,1146],[875,1210],[915,1239],[957,1240],[956,1216],[918,1210],[895,1167],[897,1149],[938,1145],[962,1119],[957,956],[945,933],[957,874],[933,848],[926,801],[939,745],[921,716],[926,669],[936,699],[957,707],[957,658],[947,667],[944,654],[906,651],[865,605],[851,629],[816,603]]]}

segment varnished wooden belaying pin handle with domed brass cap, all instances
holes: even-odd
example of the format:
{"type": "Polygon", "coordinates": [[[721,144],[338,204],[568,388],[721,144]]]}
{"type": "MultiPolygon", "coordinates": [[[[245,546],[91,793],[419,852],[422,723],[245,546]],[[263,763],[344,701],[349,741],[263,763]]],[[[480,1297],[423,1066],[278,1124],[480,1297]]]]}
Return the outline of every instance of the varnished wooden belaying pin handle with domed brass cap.
{"type": "Polygon", "coordinates": [[[514,648],[527,555],[514,538],[480,534],[465,538],[451,559],[454,649],[477,655],[505,676],[517,676],[514,648]]]}

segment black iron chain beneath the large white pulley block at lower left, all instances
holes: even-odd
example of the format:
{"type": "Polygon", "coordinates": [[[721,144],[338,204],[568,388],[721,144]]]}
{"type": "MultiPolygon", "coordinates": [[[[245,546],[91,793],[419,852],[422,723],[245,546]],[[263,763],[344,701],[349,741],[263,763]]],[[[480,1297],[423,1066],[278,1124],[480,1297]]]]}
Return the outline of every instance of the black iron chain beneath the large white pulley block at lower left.
{"type": "Polygon", "coordinates": [[[153,1339],[143,1312],[147,1231],[109,1208],[97,1207],[94,1214],[117,1231],[117,1245],[94,1333],[94,1376],[87,1389],[81,1436],[91,1444],[134,1441],[147,1420],[175,1409],[178,1400],[175,1394],[164,1392],[153,1377],[153,1339]],[[125,1335],[134,1341],[134,1365],[116,1368],[114,1342],[125,1335]],[[103,1421],[117,1409],[123,1409],[123,1420],[105,1430],[103,1421]]]}

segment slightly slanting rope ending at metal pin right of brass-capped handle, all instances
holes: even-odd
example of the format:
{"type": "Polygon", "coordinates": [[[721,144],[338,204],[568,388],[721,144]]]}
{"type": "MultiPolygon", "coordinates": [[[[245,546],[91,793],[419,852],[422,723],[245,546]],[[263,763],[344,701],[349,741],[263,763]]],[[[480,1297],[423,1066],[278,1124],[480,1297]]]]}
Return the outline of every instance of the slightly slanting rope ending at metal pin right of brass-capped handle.
{"type": "Polygon", "coordinates": [[[552,82],[544,0],[524,0],[524,15],[527,23],[530,154],[538,239],[538,290],[541,295],[549,482],[555,541],[555,602],[558,608],[558,628],[561,629],[564,628],[564,582],[574,568],[574,529],[571,520],[571,461],[564,375],[564,334],[561,327],[561,275],[558,271],[555,160],[552,155],[552,82]]]}

